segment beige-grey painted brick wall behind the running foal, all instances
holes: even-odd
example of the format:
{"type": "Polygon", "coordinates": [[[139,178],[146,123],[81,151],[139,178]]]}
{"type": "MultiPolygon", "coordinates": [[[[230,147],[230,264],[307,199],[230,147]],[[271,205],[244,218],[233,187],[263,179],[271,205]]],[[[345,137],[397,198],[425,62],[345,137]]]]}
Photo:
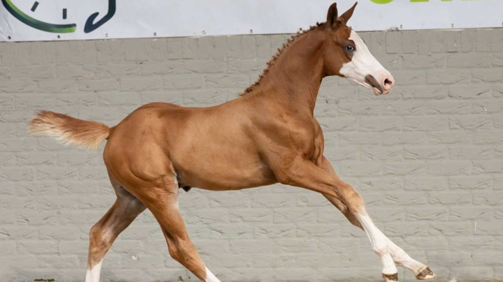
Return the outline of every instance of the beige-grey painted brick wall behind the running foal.
{"type": "MultiPolygon", "coordinates": [[[[503,279],[503,29],[361,36],[397,85],[377,97],[324,80],[316,117],[326,156],[379,228],[439,281],[503,279]]],[[[224,103],[287,37],[0,44],[1,281],[82,281],[89,228],[115,200],[101,152],[27,137],[36,110],[114,125],[152,101],[224,103]]],[[[222,281],[380,279],[365,234],[316,193],[193,189],[180,206],[222,281]]],[[[149,212],[117,239],[102,274],[196,281],[169,257],[149,212]]]]}

